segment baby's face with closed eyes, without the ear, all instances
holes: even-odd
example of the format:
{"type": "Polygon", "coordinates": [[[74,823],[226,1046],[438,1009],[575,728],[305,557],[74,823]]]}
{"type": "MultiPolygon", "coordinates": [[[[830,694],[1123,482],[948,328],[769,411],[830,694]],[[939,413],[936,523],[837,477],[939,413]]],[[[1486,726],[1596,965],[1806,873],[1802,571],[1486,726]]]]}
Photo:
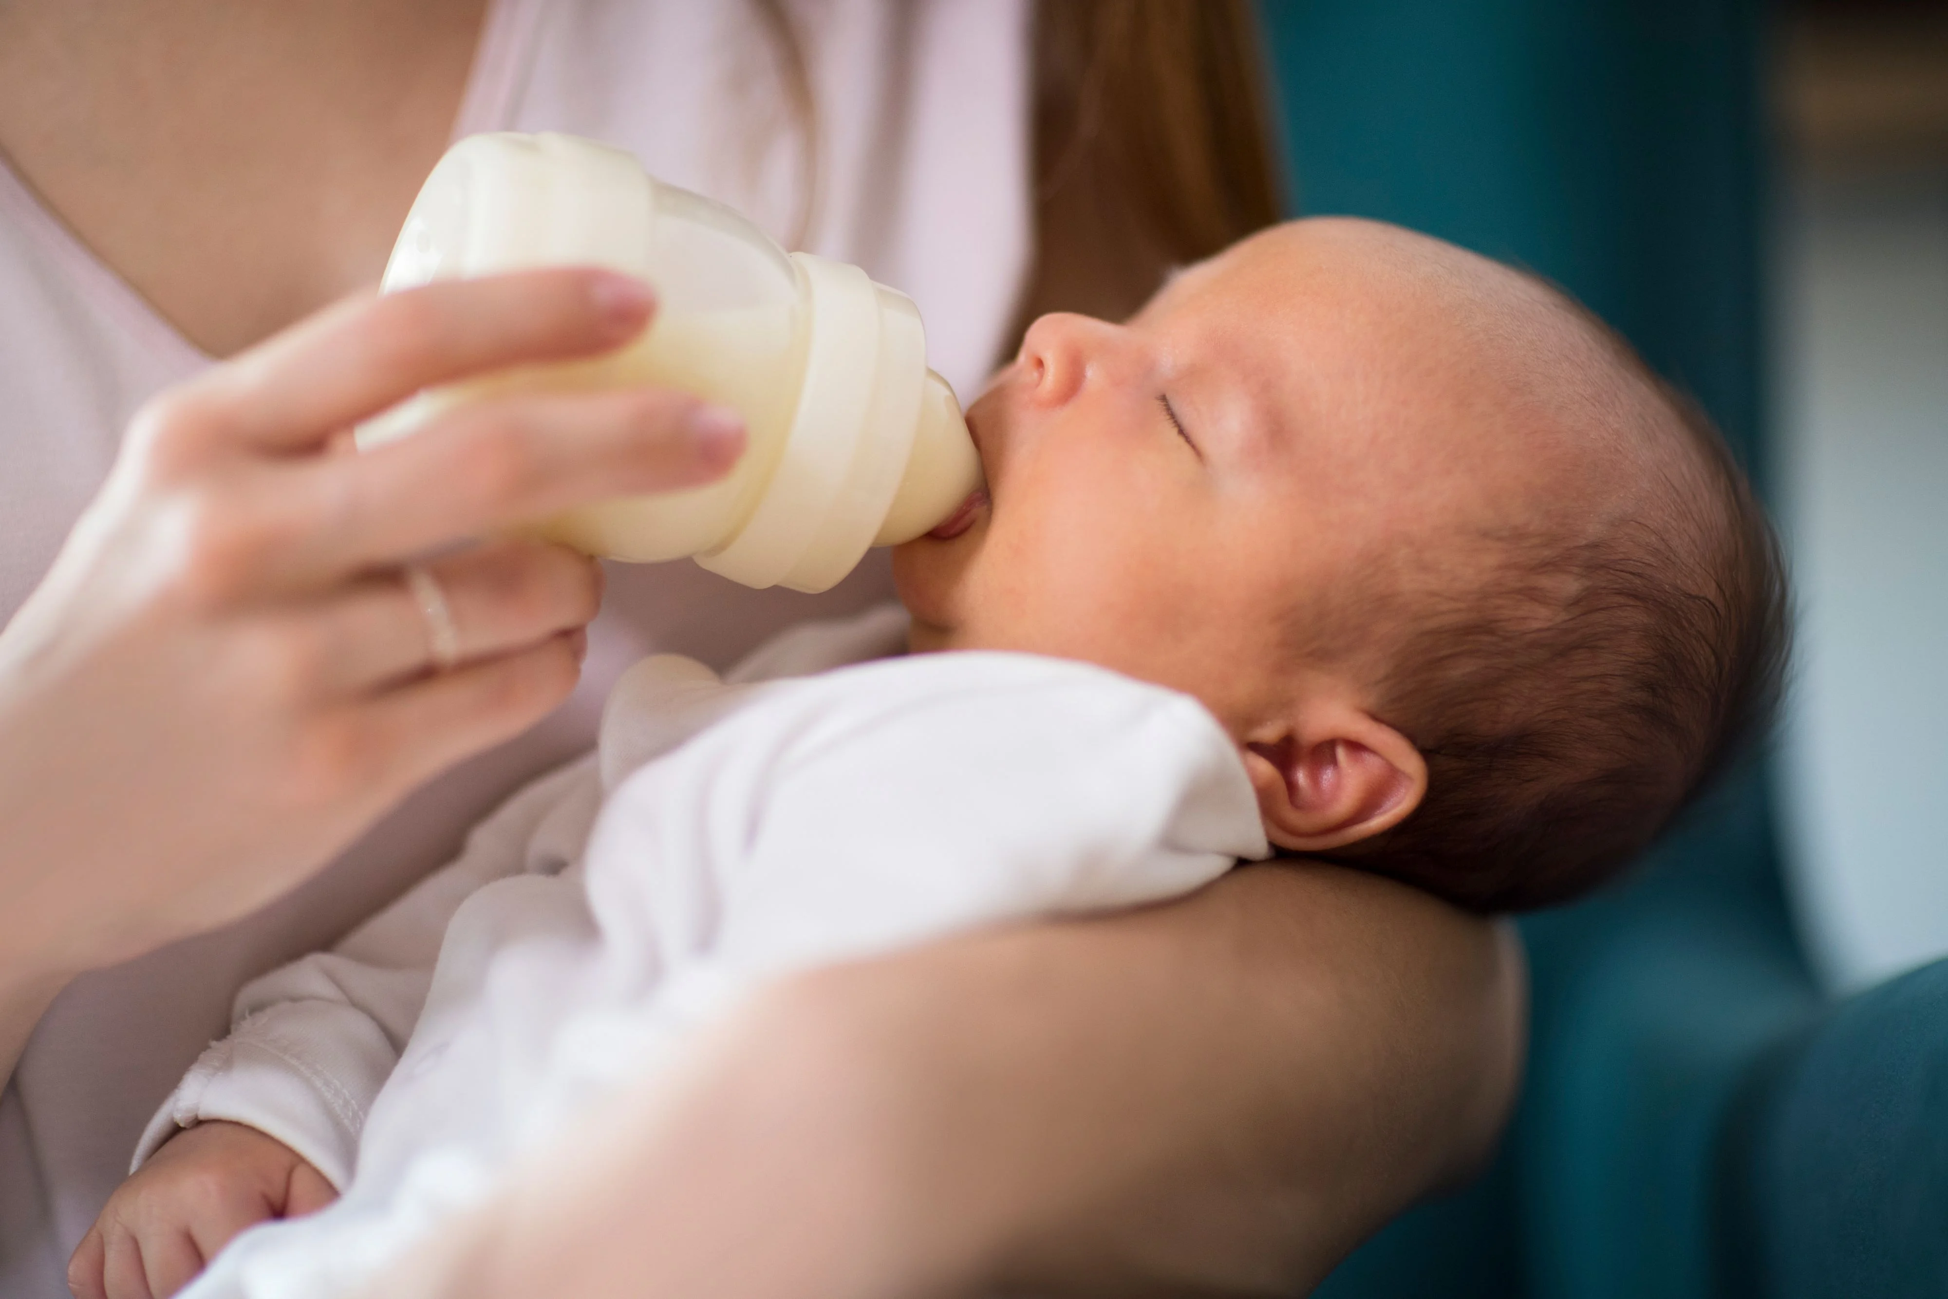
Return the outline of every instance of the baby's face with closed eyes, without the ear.
{"type": "MultiPolygon", "coordinates": [[[[1375,559],[1576,495],[1588,456],[1525,419],[1510,349],[1541,302],[1459,249],[1327,220],[1184,271],[1126,325],[1044,315],[968,413],[988,501],[894,553],[914,649],[1083,658],[1247,740],[1321,687],[1293,627],[1330,639],[1375,559]]],[[[1358,703],[1377,649],[1340,649],[1358,703]]]]}

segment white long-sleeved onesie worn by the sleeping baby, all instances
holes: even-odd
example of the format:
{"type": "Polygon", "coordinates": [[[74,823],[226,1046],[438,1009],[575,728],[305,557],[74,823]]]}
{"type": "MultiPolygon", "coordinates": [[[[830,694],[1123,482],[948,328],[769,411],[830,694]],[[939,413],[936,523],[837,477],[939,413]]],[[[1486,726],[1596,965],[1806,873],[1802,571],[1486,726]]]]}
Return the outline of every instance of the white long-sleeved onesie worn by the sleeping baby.
{"type": "Polygon", "coordinates": [[[136,1165],[224,1118],[343,1194],[244,1233],[183,1293],[356,1289],[764,980],[1157,902],[1268,855],[1237,748],[1194,699],[1029,654],[834,668],[902,637],[898,610],[814,623],[727,682],[645,658],[594,754],[331,952],[244,987],[136,1165]],[[783,676],[801,672],[818,674],[783,676]]]}

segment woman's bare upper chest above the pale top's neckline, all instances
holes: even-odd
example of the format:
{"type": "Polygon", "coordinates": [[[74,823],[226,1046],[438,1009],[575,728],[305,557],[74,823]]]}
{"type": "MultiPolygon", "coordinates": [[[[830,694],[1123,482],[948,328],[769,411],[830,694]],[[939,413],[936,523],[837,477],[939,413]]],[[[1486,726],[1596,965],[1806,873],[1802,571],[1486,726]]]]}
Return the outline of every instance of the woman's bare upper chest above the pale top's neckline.
{"type": "Polygon", "coordinates": [[[6,0],[0,152],[189,341],[378,278],[487,0],[6,0]]]}

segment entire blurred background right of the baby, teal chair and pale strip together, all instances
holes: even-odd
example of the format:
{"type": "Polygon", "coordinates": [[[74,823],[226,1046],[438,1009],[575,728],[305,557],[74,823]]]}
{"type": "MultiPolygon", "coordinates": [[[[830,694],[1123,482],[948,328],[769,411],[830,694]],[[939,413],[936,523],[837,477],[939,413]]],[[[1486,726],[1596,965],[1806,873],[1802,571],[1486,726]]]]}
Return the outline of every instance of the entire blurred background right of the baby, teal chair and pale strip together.
{"type": "Polygon", "coordinates": [[[1948,1295],[1948,4],[1262,0],[1292,208],[1562,282],[1780,520],[1775,748],[1523,921],[1496,1163],[1334,1299],[1948,1295]]]}

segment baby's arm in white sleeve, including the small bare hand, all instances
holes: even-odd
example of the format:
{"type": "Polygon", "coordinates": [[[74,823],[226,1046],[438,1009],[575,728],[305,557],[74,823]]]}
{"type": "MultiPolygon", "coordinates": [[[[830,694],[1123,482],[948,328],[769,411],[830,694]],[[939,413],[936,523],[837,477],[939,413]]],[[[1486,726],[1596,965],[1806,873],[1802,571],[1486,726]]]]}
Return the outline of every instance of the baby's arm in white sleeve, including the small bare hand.
{"type": "Polygon", "coordinates": [[[475,826],[458,859],[333,950],[247,984],[230,1036],[150,1120],[132,1176],[74,1252],[74,1291],[162,1299],[238,1231],[337,1198],[454,909],[497,878],[567,865],[598,798],[592,758],[536,781],[475,826]]]}

